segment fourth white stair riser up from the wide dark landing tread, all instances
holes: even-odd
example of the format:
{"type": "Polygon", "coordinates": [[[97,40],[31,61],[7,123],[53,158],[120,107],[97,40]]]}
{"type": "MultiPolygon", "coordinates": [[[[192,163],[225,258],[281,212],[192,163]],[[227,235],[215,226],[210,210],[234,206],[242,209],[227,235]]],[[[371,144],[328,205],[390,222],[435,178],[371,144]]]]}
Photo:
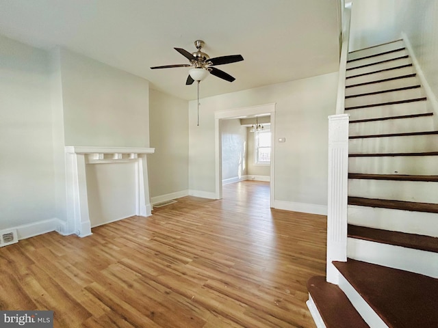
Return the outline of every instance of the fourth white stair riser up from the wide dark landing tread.
{"type": "Polygon", "coordinates": [[[438,156],[350,157],[348,171],[363,174],[438,176],[438,156]]]}

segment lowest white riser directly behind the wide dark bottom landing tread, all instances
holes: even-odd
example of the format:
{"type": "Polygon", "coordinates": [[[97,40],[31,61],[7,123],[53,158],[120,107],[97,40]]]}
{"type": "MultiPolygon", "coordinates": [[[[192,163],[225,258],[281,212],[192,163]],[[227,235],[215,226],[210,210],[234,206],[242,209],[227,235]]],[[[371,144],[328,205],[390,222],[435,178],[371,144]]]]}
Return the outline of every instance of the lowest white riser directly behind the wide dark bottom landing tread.
{"type": "Polygon", "coordinates": [[[438,278],[438,253],[347,238],[347,256],[394,269],[438,278]]]}

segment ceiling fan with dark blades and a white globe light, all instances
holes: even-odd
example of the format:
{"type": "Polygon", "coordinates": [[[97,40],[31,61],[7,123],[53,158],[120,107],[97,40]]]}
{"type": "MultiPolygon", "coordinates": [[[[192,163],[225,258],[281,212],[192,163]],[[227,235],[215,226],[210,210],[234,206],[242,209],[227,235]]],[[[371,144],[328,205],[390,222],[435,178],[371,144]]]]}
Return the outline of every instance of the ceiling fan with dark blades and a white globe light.
{"type": "Polygon", "coordinates": [[[219,70],[214,66],[242,61],[244,60],[242,55],[228,55],[210,58],[209,55],[201,51],[202,47],[204,46],[203,40],[196,40],[194,45],[196,46],[196,49],[198,49],[198,51],[195,51],[194,53],[189,53],[182,48],[174,48],[185,58],[189,59],[190,64],[154,66],[151,67],[151,69],[156,70],[157,68],[193,67],[191,70],[189,70],[189,76],[187,77],[187,81],[185,81],[185,85],[191,85],[194,81],[203,81],[203,79],[205,79],[210,73],[215,77],[224,79],[225,81],[233,82],[235,80],[235,78],[230,74],[224,72],[223,70],[219,70]]]}

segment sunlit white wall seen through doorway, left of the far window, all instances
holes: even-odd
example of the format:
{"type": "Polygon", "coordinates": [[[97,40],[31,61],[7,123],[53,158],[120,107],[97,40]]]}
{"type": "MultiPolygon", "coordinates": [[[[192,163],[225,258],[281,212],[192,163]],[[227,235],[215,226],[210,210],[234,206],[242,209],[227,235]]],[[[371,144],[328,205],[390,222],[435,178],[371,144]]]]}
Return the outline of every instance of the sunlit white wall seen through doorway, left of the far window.
{"type": "Polygon", "coordinates": [[[247,174],[246,127],[239,119],[221,120],[222,131],[222,180],[238,180],[247,174]]]}

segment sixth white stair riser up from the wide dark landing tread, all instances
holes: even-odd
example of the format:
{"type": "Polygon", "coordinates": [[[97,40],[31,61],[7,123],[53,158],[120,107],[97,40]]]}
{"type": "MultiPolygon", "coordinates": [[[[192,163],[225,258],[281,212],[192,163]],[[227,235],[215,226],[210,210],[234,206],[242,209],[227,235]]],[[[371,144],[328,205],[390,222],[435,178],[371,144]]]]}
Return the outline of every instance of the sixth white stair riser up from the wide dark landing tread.
{"type": "Polygon", "coordinates": [[[432,116],[420,116],[417,118],[350,123],[348,126],[350,136],[375,135],[382,133],[382,131],[385,131],[385,133],[434,131],[433,118],[432,116]]]}

